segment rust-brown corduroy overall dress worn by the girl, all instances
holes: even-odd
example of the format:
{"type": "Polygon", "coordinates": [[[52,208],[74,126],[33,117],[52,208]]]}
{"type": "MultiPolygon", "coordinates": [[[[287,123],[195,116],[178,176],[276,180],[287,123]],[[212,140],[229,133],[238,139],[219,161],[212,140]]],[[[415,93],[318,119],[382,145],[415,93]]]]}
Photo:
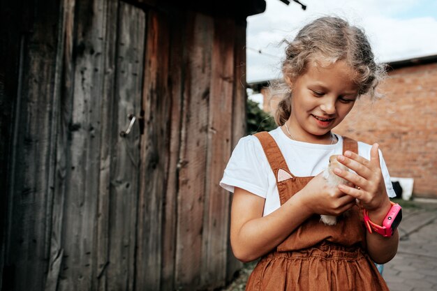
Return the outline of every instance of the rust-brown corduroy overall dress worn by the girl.
{"type": "MultiPolygon", "coordinates": [[[[273,137],[267,132],[255,136],[275,174],[282,205],[313,177],[294,177],[273,137]],[[278,179],[280,169],[291,179],[278,179]]],[[[343,137],[343,153],[346,150],[357,153],[357,142],[343,137]]],[[[320,215],[313,215],[276,250],[260,259],[249,276],[246,291],[388,290],[364,251],[366,230],[362,221],[357,205],[337,218],[336,225],[325,225],[320,215]]]]}

